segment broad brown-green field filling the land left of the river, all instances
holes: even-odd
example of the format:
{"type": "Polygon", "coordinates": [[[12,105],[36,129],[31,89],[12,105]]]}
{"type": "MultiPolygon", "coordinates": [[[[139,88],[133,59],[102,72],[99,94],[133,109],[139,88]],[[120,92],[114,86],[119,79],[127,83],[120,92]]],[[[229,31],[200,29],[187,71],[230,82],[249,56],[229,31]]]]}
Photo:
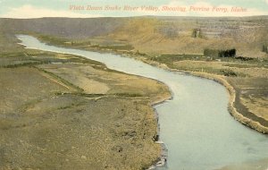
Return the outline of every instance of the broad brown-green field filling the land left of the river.
{"type": "Polygon", "coordinates": [[[0,55],[0,169],[143,169],[161,155],[162,82],[77,55],[0,55]]]}

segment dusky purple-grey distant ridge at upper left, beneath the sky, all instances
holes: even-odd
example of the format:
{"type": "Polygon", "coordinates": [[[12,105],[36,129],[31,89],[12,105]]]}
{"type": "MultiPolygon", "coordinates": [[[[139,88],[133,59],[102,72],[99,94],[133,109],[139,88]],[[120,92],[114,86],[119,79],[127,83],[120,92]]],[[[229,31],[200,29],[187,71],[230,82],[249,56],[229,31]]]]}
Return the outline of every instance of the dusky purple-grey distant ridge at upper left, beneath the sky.
{"type": "MultiPolygon", "coordinates": [[[[124,21],[120,18],[0,19],[5,29],[39,32],[64,38],[88,38],[112,32],[124,21]]],[[[0,22],[0,23],[1,23],[0,22]]]]}

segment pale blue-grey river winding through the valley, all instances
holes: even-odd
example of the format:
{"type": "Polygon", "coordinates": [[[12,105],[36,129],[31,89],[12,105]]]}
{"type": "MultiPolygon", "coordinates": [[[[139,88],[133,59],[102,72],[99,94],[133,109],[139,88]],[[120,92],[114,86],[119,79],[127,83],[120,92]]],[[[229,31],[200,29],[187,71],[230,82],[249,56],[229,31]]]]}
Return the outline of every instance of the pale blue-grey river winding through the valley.
{"type": "MultiPolygon", "coordinates": [[[[228,113],[228,91],[219,83],[178,72],[168,72],[121,55],[48,46],[20,35],[21,44],[106,64],[113,70],[163,81],[173,98],[155,106],[160,139],[168,151],[168,170],[213,170],[223,166],[268,160],[268,136],[235,121],[228,113]]],[[[240,169],[240,168],[238,168],[240,169]]],[[[268,169],[268,162],[255,169],[268,169]]]]}

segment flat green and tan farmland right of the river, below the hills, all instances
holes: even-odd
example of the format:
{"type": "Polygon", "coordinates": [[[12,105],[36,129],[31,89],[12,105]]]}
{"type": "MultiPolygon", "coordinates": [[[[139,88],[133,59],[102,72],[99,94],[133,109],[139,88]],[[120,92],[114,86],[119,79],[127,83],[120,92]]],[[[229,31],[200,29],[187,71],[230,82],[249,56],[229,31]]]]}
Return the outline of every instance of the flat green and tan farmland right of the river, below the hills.
{"type": "MultiPolygon", "coordinates": [[[[118,46],[88,45],[87,41],[65,44],[63,39],[34,35],[55,46],[80,48],[98,52],[134,57],[147,64],[163,67],[173,72],[188,72],[214,79],[230,92],[230,114],[239,122],[263,133],[268,133],[268,58],[210,57],[205,55],[176,55],[134,52],[118,46]],[[233,90],[233,91],[232,91],[233,90]]],[[[64,39],[66,40],[66,39],[64,39]]],[[[71,40],[70,40],[71,41],[71,40]]]]}

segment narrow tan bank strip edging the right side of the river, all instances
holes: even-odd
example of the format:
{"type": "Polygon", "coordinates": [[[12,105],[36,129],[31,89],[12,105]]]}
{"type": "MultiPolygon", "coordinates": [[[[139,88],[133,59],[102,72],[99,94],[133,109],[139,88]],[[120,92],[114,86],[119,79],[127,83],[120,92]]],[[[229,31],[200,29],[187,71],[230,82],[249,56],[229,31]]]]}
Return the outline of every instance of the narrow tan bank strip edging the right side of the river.
{"type": "MultiPolygon", "coordinates": [[[[42,37],[40,37],[38,35],[34,35],[34,36],[39,38],[40,40],[44,40],[44,39],[42,39],[42,37]]],[[[53,42],[48,42],[47,39],[45,39],[45,42],[53,45],[53,42]]],[[[57,46],[70,47],[70,46],[68,46],[66,44],[57,44],[57,46]]],[[[268,127],[266,127],[263,124],[261,124],[259,122],[256,122],[256,121],[252,120],[251,118],[248,118],[247,116],[239,113],[238,109],[235,106],[235,101],[236,101],[236,98],[237,98],[237,90],[230,84],[229,81],[226,80],[225,76],[218,75],[217,74],[218,72],[217,73],[203,72],[203,68],[202,68],[202,71],[200,69],[199,72],[191,71],[191,69],[189,69],[188,71],[185,71],[185,70],[181,70],[180,68],[171,68],[170,66],[167,66],[167,64],[149,60],[146,56],[143,56],[144,54],[143,55],[142,54],[135,54],[135,53],[130,53],[128,51],[120,51],[120,50],[113,50],[113,49],[98,49],[96,47],[87,47],[87,48],[85,48],[85,47],[75,47],[75,46],[71,46],[71,47],[78,48],[78,49],[95,51],[95,52],[99,52],[99,53],[113,53],[113,54],[116,54],[116,55],[124,55],[124,56],[127,56],[127,57],[135,58],[135,59],[140,60],[142,62],[145,62],[147,64],[151,64],[151,65],[163,68],[165,70],[169,70],[171,72],[185,72],[185,73],[189,73],[189,74],[194,75],[194,76],[199,76],[199,77],[203,77],[203,78],[206,78],[206,79],[211,79],[211,80],[214,80],[214,81],[218,81],[219,83],[221,83],[229,91],[229,94],[230,94],[230,102],[229,102],[230,115],[232,115],[240,123],[243,123],[243,124],[247,125],[248,127],[252,128],[252,129],[255,129],[258,132],[268,133],[268,127]]],[[[189,64],[191,64],[191,63],[189,62],[189,64]]],[[[224,72],[230,72],[230,71],[224,71],[224,72]]],[[[243,69],[240,69],[239,71],[236,71],[236,72],[239,72],[239,74],[244,76],[244,74],[242,73],[243,69]]],[[[253,76],[253,75],[251,75],[252,74],[251,72],[249,74],[250,74],[250,76],[253,76]]],[[[237,102],[239,102],[239,101],[237,101],[237,102]]],[[[251,115],[258,117],[258,115],[254,115],[254,114],[251,114],[251,115]]]]}

